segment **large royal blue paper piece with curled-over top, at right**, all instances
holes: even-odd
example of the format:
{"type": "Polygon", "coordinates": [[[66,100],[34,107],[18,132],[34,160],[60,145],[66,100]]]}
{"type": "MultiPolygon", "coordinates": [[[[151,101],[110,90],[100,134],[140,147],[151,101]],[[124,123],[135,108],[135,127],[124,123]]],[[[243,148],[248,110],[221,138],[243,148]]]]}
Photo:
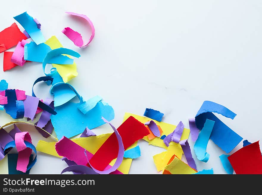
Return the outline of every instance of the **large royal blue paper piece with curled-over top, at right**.
{"type": "Polygon", "coordinates": [[[243,139],[236,132],[220,121],[212,112],[233,119],[236,114],[226,107],[210,101],[204,101],[195,117],[198,129],[202,129],[206,119],[215,121],[210,139],[226,153],[231,152],[243,139]]]}

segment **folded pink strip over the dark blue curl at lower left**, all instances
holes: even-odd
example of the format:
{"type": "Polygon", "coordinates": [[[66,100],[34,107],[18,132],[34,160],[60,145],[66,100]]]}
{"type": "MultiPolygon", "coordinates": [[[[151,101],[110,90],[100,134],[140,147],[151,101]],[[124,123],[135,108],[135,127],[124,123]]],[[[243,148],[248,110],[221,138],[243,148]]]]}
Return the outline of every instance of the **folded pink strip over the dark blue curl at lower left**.
{"type": "Polygon", "coordinates": [[[32,153],[31,148],[26,148],[24,141],[32,143],[31,136],[28,132],[21,132],[15,134],[15,146],[18,151],[18,159],[16,170],[26,172],[29,163],[29,157],[32,153]]]}

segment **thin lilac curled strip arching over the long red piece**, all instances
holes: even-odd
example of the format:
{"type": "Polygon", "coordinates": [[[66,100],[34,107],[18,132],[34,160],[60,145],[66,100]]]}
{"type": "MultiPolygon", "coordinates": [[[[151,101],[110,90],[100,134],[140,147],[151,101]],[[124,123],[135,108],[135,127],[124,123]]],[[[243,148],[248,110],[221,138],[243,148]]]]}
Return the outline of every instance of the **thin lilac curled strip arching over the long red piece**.
{"type": "MultiPolygon", "coordinates": [[[[117,155],[117,158],[116,158],[116,162],[115,164],[110,167],[109,169],[107,170],[104,170],[104,171],[99,171],[97,169],[95,169],[90,163],[89,163],[89,160],[88,160],[88,157],[86,155],[86,150],[85,150],[85,156],[86,156],[86,159],[87,159],[87,162],[89,163],[90,167],[97,173],[99,174],[109,174],[113,171],[115,171],[119,166],[120,164],[122,163],[123,161],[123,158],[124,158],[124,145],[123,145],[123,141],[122,141],[122,138],[120,136],[120,134],[118,133],[118,131],[116,130],[116,128],[110,123],[108,122],[104,117],[102,117],[102,120],[105,121],[105,123],[108,123],[112,129],[114,130],[115,134],[116,134],[116,138],[117,138],[117,141],[118,141],[118,155],[117,155]]],[[[74,171],[75,172],[75,171],[74,171]]]]}

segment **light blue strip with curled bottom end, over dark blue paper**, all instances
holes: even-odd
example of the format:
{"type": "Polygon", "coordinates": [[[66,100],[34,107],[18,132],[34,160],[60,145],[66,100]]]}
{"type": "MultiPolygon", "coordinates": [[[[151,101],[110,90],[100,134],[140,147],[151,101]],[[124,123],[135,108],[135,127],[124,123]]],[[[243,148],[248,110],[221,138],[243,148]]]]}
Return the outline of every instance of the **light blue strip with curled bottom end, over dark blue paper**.
{"type": "Polygon", "coordinates": [[[206,119],[202,131],[199,133],[197,141],[194,145],[194,150],[199,161],[207,162],[209,159],[209,153],[206,152],[208,140],[212,132],[215,121],[206,119]]]}

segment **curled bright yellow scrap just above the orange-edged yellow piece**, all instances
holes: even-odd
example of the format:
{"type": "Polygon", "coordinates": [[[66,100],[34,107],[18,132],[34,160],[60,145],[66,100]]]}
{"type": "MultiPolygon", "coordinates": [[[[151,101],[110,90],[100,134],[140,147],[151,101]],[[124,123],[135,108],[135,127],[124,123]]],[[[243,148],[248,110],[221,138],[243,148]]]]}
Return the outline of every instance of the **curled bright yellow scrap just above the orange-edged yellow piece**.
{"type": "Polygon", "coordinates": [[[176,155],[179,159],[181,159],[182,153],[183,150],[180,144],[171,142],[169,147],[167,148],[167,151],[153,156],[155,166],[157,167],[157,171],[163,170],[173,155],[176,155]]]}

